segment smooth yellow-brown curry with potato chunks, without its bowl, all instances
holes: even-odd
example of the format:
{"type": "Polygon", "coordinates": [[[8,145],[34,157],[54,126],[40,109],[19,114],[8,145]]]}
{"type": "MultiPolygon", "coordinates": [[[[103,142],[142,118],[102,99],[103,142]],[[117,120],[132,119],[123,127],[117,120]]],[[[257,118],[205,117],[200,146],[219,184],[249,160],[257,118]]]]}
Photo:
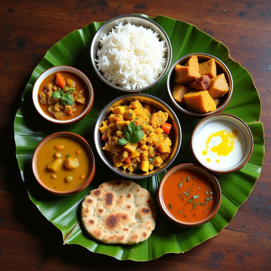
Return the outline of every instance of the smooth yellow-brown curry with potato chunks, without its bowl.
{"type": "Polygon", "coordinates": [[[90,172],[85,147],[70,137],[56,137],[39,150],[36,169],[40,180],[56,191],[70,191],[82,185],[90,172]]]}

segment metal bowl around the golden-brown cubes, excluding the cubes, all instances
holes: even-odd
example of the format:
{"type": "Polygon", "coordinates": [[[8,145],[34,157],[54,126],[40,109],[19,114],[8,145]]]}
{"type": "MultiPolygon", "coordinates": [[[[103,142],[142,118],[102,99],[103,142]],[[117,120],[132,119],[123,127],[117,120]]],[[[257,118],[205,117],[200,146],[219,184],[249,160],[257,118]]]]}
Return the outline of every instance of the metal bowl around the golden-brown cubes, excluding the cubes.
{"type": "Polygon", "coordinates": [[[233,93],[233,78],[231,77],[231,73],[230,73],[228,67],[217,57],[212,56],[210,54],[205,54],[205,53],[193,53],[193,54],[188,54],[186,56],[183,56],[182,58],[178,59],[172,65],[172,67],[170,68],[169,73],[167,75],[166,88],[167,88],[167,95],[168,95],[170,101],[172,102],[173,106],[178,111],[180,111],[186,117],[201,119],[201,118],[205,118],[205,117],[212,115],[212,114],[215,114],[215,113],[220,113],[227,107],[228,103],[231,100],[231,96],[233,93]],[[174,83],[175,66],[177,64],[184,65],[191,56],[198,57],[199,63],[208,61],[213,58],[215,60],[216,66],[217,66],[217,75],[220,75],[221,73],[224,73],[224,75],[225,75],[225,78],[226,78],[228,86],[229,86],[229,90],[222,98],[220,98],[221,99],[220,105],[214,111],[207,112],[207,113],[197,113],[197,112],[189,111],[186,109],[185,103],[177,103],[172,96],[172,89],[173,89],[173,85],[175,84],[174,83]]]}

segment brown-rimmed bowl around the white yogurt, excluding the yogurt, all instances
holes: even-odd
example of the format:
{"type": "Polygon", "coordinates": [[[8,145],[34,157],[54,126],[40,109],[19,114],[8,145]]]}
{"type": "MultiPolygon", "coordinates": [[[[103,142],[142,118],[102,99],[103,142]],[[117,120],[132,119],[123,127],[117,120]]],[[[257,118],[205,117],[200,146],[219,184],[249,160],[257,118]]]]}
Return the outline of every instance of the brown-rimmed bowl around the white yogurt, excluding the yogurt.
{"type": "Polygon", "coordinates": [[[249,127],[240,118],[237,118],[234,115],[225,114],[225,113],[213,114],[211,116],[204,118],[196,125],[195,129],[193,130],[192,136],[191,136],[190,147],[191,147],[191,151],[193,153],[193,156],[195,157],[197,162],[201,166],[203,166],[205,169],[207,169],[211,172],[214,172],[216,174],[229,174],[229,173],[233,173],[237,170],[240,170],[249,161],[251,154],[252,154],[252,151],[253,151],[253,137],[252,137],[252,134],[251,134],[249,127]],[[195,149],[198,147],[196,141],[197,141],[197,137],[199,135],[199,132],[201,131],[201,129],[205,125],[207,125],[208,123],[213,122],[213,121],[230,122],[230,123],[234,124],[235,126],[237,126],[244,135],[244,138],[246,140],[246,150],[245,150],[243,158],[235,166],[232,166],[227,169],[215,169],[213,167],[207,166],[206,164],[202,163],[202,160],[196,155],[195,149]]]}

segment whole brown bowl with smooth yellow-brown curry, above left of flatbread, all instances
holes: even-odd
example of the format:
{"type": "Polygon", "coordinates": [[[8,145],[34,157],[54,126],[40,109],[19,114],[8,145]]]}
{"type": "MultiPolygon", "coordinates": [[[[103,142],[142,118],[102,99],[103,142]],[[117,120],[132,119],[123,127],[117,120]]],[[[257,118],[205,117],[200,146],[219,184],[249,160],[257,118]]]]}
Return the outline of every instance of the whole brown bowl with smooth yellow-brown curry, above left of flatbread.
{"type": "Polygon", "coordinates": [[[59,132],[44,138],[34,151],[32,170],[38,183],[54,195],[86,188],[95,174],[88,142],[80,135],[59,132]]]}

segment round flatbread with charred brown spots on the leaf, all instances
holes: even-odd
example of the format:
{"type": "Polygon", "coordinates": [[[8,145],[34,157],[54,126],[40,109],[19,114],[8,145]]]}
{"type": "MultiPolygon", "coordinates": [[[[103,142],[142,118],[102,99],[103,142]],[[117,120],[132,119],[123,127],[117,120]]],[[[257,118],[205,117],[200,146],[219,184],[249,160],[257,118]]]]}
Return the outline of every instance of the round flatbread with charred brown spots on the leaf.
{"type": "Polygon", "coordinates": [[[137,244],[155,228],[156,211],[150,193],[125,180],[111,180],[82,202],[82,222],[95,239],[108,244],[137,244]]]}

